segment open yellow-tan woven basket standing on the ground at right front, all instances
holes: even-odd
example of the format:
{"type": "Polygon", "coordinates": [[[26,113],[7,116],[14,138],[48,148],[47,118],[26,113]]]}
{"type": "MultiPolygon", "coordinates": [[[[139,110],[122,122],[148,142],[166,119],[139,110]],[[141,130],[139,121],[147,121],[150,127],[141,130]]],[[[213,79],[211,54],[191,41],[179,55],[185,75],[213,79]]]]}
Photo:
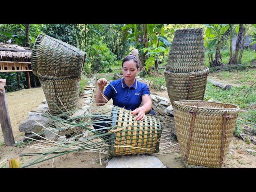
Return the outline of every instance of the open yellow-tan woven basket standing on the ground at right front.
{"type": "Polygon", "coordinates": [[[173,103],[176,134],[187,167],[221,168],[239,107],[208,101],[173,103]]]}

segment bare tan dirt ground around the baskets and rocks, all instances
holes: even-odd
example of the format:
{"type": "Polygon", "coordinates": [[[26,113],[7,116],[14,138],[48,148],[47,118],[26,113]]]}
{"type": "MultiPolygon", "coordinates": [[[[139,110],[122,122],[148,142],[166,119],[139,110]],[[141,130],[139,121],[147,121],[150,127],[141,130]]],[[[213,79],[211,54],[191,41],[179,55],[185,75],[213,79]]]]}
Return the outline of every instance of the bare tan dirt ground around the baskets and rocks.
{"type": "MultiPolygon", "coordinates": [[[[157,91],[150,89],[151,94],[167,97],[167,90],[157,91]]],[[[17,92],[7,93],[8,109],[10,112],[10,119],[12,123],[12,130],[15,141],[22,140],[24,133],[19,132],[18,125],[28,116],[28,112],[37,108],[45,96],[42,88],[34,88],[27,90],[20,90],[17,92]]],[[[10,158],[19,158],[21,164],[27,164],[37,156],[23,156],[19,157],[19,153],[38,152],[35,149],[26,146],[12,146],[7,147],[3,144],[2,131],[0,131],[0,164],[10,158]],[[2,141],[2,142],[1,142],[2,141]]],[[[34,144],[36,142],[33,142],[34,144]]],[[[174,141],[175,143],[175,141],[174,141]]],[[[247,149],[256,150],[256,145],[247,144],[246,142],[233,137],[230,143],[229,152],[226,158],[227,168],[256,168],[256,156],[250,154],[247,149]]],[[[182,156],[177,146],[174,146],[172,154],[164,154],[157,156],[164,165],[168,168],[184,168],[182,156]]],[[[35,164],[30,167],[34,168],[105,168],[107,156],[101,154],[101,163],[99,153],[70,153],[57,158],[47,160],[42,163],[35,164]],[[105,162],[104,162],[105,161],[105,162]]],[[[8,165],[6,165],[8,167],[8,165]]]]}

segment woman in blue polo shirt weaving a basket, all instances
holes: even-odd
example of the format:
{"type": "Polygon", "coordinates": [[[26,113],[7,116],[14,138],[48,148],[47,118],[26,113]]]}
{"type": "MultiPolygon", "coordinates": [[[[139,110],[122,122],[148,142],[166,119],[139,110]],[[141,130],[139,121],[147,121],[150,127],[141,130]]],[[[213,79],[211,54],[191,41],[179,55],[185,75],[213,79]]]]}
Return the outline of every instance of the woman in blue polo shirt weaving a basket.
{"type": "Polygon", "coordinates": [[[136,80],[136,75],[140,71],[139,64],[138,50],[132,50],[132,54],[123,59],[122,79],[112,81],[103,92],[107,80],[100,78],[97,81],[96,105],[102,106],[112,98],[115,106],[132,110],[132,115],[136,116],[135,120],[144,120],[146,113],[155,115],[148,85],[136,80]],[[141,102],[143,106],[140,107],[141,102]]]}

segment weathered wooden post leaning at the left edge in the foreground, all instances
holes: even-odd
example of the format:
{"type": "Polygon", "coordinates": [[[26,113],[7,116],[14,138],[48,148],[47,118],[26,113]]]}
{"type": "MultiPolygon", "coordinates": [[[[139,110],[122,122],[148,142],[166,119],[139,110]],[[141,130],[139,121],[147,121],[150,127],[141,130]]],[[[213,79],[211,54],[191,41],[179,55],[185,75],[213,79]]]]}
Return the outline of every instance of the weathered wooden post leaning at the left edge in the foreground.
{"type": "Polygon", "coordinates": [[[6,146],[13,146],[15,144],[15,141],[12,133],[12,125],[4,90],[5,82],[6,79],[0,79],[0,123],[4,136],[4,143],[6,144],[6,146]]]}

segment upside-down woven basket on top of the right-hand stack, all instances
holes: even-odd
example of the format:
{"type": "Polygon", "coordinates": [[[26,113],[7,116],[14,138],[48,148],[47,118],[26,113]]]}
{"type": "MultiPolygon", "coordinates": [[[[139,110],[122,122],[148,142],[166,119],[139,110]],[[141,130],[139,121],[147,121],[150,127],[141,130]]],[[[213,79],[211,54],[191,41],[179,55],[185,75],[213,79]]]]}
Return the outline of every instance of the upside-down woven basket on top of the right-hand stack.
{"type": "Polygon", "coordinates": [[[176,30],[166,71],[186,73],[205,70],[205,68],[202,28],[176,30]]]}

